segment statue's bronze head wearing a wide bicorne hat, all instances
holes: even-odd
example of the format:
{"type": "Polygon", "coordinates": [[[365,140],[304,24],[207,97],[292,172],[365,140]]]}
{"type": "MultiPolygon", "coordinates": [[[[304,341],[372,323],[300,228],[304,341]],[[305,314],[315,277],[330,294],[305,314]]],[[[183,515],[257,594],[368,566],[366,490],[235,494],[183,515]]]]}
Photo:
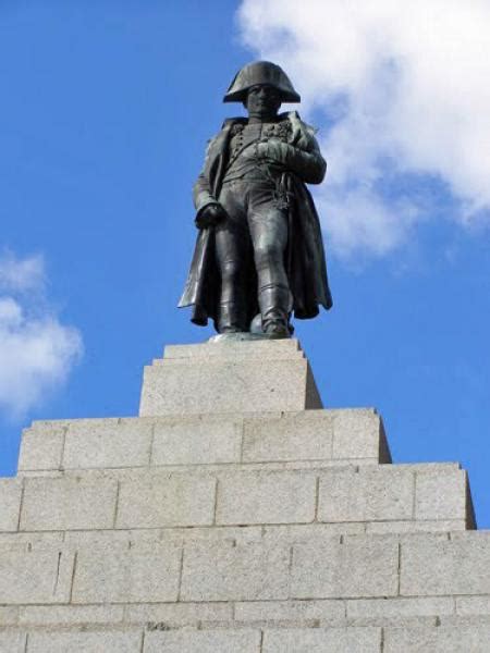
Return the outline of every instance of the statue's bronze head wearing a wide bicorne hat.
{"type": "Polygon", "coordinates": [[[238,71],[223,102],[242,102],[248,113],[275,114],[282,102],[299,102],[284,71],[270,61],[254,61],[238,71]]]}

